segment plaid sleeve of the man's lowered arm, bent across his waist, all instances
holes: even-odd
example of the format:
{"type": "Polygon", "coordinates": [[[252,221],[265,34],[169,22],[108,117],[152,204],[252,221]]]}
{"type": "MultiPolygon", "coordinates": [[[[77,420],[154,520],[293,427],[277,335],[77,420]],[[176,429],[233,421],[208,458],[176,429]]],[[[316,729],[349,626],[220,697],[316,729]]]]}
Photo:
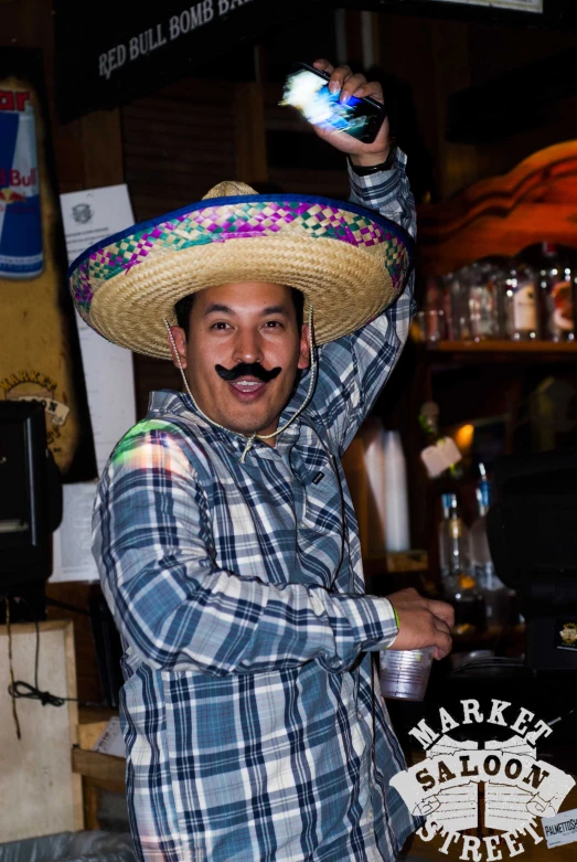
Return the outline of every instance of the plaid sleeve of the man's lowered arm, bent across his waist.
{"type": "Polygon", "coordinates": [[[100,480],[93,533],[116,625],[157,669],[220,677],[317,660],[339,672],[398,631],[386,598],[220,568],[206,494],[165,430],[129,435],[117,447],[100,480]]]}

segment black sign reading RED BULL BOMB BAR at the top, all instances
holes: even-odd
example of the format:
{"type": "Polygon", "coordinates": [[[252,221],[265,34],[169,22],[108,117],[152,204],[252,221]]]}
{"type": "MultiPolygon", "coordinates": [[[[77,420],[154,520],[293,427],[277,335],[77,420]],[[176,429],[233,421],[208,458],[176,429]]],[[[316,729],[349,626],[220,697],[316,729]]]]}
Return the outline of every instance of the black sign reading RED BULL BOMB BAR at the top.
{"type": "MultiPolygon", "coordinates": [[[[145,96],[197,70],[220,76],[218,58],[267,29],[303,20],[320,0],[100,0],[86,26],[76,0],[54,0],[56,100],[63,120],[145,96]],[[82,33],[82,38],[78,34],[82,33]]],[[[250,65],[250,76],[253,67],[250,65]]]]}

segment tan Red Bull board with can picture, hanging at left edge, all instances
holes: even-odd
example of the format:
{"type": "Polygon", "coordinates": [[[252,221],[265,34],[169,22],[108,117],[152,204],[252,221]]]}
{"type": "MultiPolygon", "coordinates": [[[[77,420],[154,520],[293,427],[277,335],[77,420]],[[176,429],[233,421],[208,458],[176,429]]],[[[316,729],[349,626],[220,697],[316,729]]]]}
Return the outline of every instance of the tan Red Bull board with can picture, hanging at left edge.
{"type": "Polygon", "coordinates": [[[39,401],[65,481],[96,476],[38,52],[0,47],[0,401],[39,401]]]}

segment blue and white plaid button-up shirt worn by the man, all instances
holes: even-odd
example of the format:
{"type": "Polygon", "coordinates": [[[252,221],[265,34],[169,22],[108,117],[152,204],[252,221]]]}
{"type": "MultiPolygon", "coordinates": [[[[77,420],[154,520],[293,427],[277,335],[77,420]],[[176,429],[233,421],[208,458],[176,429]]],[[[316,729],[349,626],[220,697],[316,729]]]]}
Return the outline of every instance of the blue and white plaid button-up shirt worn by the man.
{"type": "MultiPolygon", "coordinates": [[[[405,161],[350,172],[352,200],[414,234],[405,161]]],[[[388,862],[419,826],[389,786],[405,760],[373,662],[397,624],[386,598],[365,595],[340,461],[412,312],[410,279],[374,321],[320,348],[311,403],[244,464],[238,436],[162,391],[107,465],[93,550],[126,650],[140,860],[388,862]]]]}

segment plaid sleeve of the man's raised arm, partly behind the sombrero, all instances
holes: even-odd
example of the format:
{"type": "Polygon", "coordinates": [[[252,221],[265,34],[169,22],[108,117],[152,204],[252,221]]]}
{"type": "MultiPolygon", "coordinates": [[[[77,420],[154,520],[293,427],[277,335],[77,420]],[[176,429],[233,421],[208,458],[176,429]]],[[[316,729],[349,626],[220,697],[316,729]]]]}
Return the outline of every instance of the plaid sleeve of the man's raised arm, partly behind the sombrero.
{"type": "MultiPolygon", "coordinates": [[[[351,200],[378,211],[415,237],[415,201],[405,172],[406,156],[397,150],[395,162],[392,170],[367,177],[357,177],[349,168],[351,200]]],[[[319,381],[311,406],[336,454],[348,448],[395,368],[414,313],[410,273],[403,294],[389,308],[356,332],[319,349],[319,381]]]]}

